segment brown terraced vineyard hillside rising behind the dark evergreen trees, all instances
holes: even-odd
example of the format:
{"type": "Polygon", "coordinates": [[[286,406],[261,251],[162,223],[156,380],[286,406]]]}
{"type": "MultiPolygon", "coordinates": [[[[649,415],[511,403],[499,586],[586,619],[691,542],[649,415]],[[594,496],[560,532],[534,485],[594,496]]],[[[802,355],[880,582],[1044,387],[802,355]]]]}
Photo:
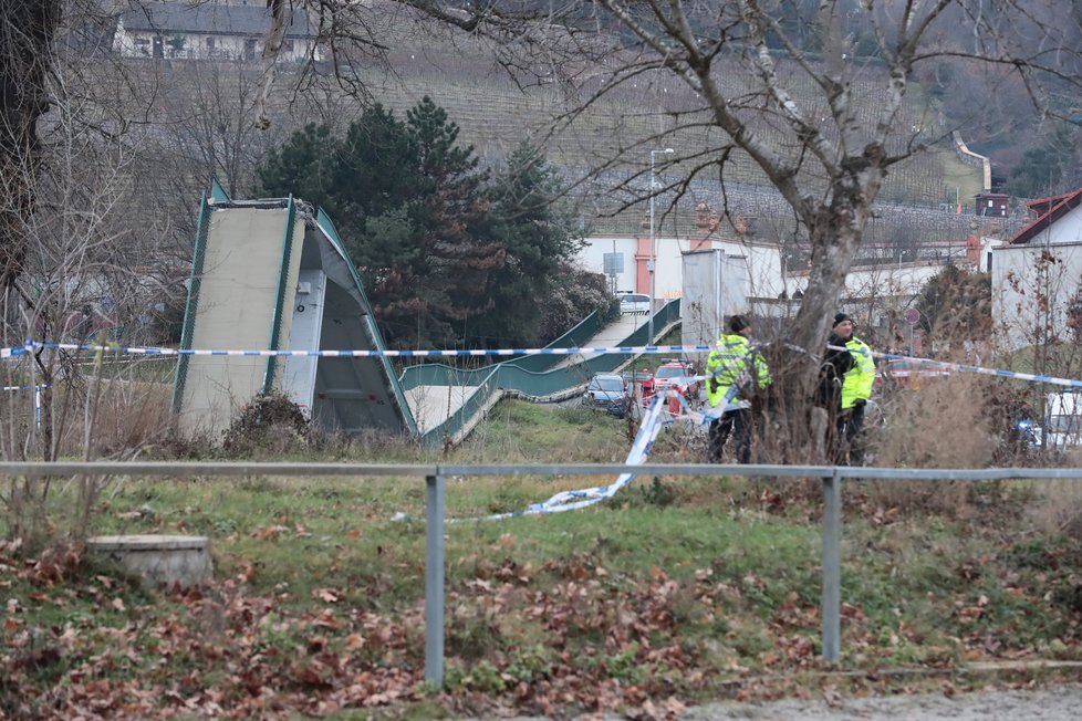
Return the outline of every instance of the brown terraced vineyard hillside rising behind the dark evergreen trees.
{"type": "MultiPolygon", "coordinates": [[[[716,210],[728,208],[734,217],[773,218],[782,224],[791,219],[788,205],[740,153],[732,153],[724,166],[724,194],[714,165],[677,198],[672,187],[687,176],[693,164],[709,165],[720,157],[725,142],[708,123],[696,124],[703,119],[696,98],[672,77],[644,74],[596,97],[576,114],[583,100],[601,88],[603,69],[580,67],[580,82],[572,86],[545,82],[543,67],[539,66],[532,70],[541,80],[520,85],[496,64],[492,50],[477,39],[434,35],[430,29],[423,31],[400,12],[377,15],[372,31],[391,48],[387,64],[370,59],[357,64],[363,71],[356,77],[346,79],[362,85],[367,96],[361,101],[351,97],[346,92],[348,83],[331,77],[331,67],[319,67],[320,75],[313,77],[301,76],[298,67],[282,66],[275,80],[278,92],[271,97],[273,122],[269,132],[251,129],[251,104],[259,82],[258,67],[251,64],[126,61],[119,81],[114,69],[86,70],[97,74],[102,92],[131,93],[132,97],[119,102],[131,103],[134,113],[146,112],[149,106],[152,124],[137,126],[146,134],[141,143],[144,149],[153,145],[165,148],[162,163],[166,165],[183,163],[183,174],[189,178],[187,185],[194,188],[188,192],[191,197],[212,174],[223,182],[230,180],[231,192],[238,197],[247,195],[252,168],[267,148],[284,142],[289,132],[308,122],[329,121],[344,128],[360,112],[361,103],[368,102],[383,103],[404,116],[429,95],[460,126],[460,139],[476,147],[485,165],[499,164],[524,138],[542,146],[569,182],[575,184],[573,194],[586,232],[642,231],[649,150],[668,146],[677,151],[673,157],[685,161],[672,167],[660,161],[657,165],[663,186],[656,196],[659,232],[693,232],[694,208],[700,202],[716,210]],[[206,116],[206,122],[196,121],[200,115],[206,116]],[[677,118],[683,127],[674,130],[677,118]],[[220,133],[215,127],[233,137],[218,137],[220,133]],[[618,189],[621,184],[626,187],[618,189]]],[[[614,51],[608,63],[618,62],[618,52],[614,51]]],[[[741,65],[719,62],[729,63],[725,75],[734,90],[749,85],[741,65]]],[[[866,92],[861,115],[872,123],[883,100],[883,83],[874,66],[862,72],[855,94],[866,92]]],[[[812,94],[801,96],[800,86],[797,92],[798,102],[814,107],[816,98],[812,94]]],[[[928,125],[922,98],[919,92],[914,95],[902,127],[928,125]]],[[[784,150],[779,133],[769,125],[759,129],[784,150]]],[[[906,139],[898,137],[897,143],[906,139]]],[[[142,157],[149,156],[143,153],[142,157]]],[[[166,168],[143,175],[175,177],[176,171],[166,168]]],[[[822,185],[810,174],[805,181],[812,187],[822,185]]],[[[969,218],[953,212],[956,199],[971,199],[979,182],[975,169],[957,163],[951,146],[933,146],[930,151],[892,168],[880,196],[882,210],[868,230],[871,239],[889,242],[902,233],[912,236],[914,230],[917,240],[964,237],[969,232],[969,218]],[[944,207],[950,212],[944,212],[944,207]]],[[[149,192],[148,188],[144,190],[149,192]]],[[[791,234],[791,230],[788,232],[791,234]]]]}

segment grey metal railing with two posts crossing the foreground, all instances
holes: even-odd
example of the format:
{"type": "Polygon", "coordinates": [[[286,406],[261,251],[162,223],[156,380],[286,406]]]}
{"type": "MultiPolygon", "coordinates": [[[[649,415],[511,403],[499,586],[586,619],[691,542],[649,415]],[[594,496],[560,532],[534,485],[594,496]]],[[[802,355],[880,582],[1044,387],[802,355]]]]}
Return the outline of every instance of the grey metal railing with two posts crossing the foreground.
{"type": "MultiPolygon", "coordinates": [[[[424,477],[425,493],[425,680],[444,680],[444,530],[447,476],[750,476],[821,479],[823,484],[822,655],[841,658],[842,480],[997,481],[1082,479],[1082,468],[915,469],[844,466],[728,466],[709,463],[547,463],[547,464],[376,464],[376,463],[211,463],[211,462],[0,462],[2,477],[42,476],[284,476],[424,477]]],[[[521,521],[519,521],[521,522],[521,521]]]]}

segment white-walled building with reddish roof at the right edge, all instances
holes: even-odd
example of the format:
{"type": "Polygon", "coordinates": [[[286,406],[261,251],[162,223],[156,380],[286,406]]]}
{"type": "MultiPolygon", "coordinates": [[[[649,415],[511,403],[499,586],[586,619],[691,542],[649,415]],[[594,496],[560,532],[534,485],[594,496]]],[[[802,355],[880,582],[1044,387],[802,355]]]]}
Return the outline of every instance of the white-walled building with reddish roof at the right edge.
{"type": "Polygon", "coordinates": [[[992,318],[1008,348],[1072,335],[1082,297],[1082,188],[1027,203],[1036,217],[990,249],[992,318]]]}

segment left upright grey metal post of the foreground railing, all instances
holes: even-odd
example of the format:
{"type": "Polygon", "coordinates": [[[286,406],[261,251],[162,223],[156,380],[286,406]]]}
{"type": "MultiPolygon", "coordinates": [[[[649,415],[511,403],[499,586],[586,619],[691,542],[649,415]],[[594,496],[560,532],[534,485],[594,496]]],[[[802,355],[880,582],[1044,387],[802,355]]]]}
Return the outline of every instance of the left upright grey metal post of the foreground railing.
{"type": "Polygon", "coordinates": [[[444,477],[425,478],[425,680],[444,685],[444,477]]]}

